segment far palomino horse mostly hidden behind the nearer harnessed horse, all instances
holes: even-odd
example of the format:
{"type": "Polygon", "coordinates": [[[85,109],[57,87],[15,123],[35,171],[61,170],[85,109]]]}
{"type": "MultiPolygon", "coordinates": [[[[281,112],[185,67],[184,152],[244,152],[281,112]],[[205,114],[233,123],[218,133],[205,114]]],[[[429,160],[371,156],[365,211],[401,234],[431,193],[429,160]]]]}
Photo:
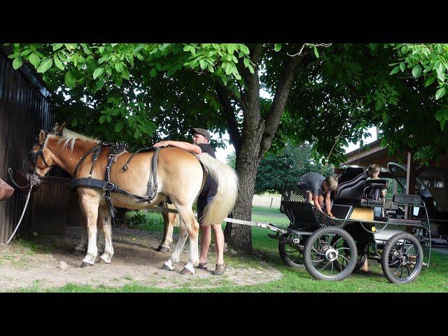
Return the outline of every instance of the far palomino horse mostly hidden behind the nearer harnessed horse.
{"type": "MultiPolygon", "coordinates": [[[[66,123],[62,123],[62,125],[59,125],[59,123],[55,123],[55,125],[52,127],[52,132],[55,132],[56,134],[62,134],[62,137],[66,138],[78,138],[78,139],[85,139],[85,140],[91,140],[91,138],[85,137],[83,134],[79,134],[76,132],[73,132],[72,130],[69,130],[65,127],[66,123]]],[[[95,141],[99,141],[95,139],[95,141]]],[[[176,207],[174,204],[169,204],[167,202],[162,202],[160,204],[163,208],[172,209],[175,210],[176,207]]],[[[169,213],[169,212],[162,212],[162,218],[165,224],[165,228],[163,231],[163,237],[162,241],[160,241],[160,244],[157,248],[157,251],[160,251],[162,253],[166,253],[169,250],[171,250],[171,245],[173,242],[173,229],[175,226],[179,226],[179,215],[169,213]]],[[[97,235],[97,246],[99,251],[104,251],[104,232],[102,227],[102,221],[97,221],[97,226],[101,230],[98,230],[97,235]]],[[[75,246],[75,251],[78,252],[87,252],[87,223],[83,221],[83,223],[80,223],[81,228],[81,241],[78,245],[75,246]]]]}

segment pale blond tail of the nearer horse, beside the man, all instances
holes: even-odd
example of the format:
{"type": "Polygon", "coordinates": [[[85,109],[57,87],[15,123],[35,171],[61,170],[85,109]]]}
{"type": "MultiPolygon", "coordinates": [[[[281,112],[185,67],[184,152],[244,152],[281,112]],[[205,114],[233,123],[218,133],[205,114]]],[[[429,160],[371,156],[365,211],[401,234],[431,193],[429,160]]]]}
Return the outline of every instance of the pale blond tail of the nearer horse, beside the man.
{"type": "Polygon", "coordinates": [[[238,196],[238,176],[232,167],[212,158],[207,153],[197,155],[207,169],[208,174],[218,183],[218,190],[213,201],[204,209],[202,218],[204,225],[221,224],[232,211],[238,196]]]}

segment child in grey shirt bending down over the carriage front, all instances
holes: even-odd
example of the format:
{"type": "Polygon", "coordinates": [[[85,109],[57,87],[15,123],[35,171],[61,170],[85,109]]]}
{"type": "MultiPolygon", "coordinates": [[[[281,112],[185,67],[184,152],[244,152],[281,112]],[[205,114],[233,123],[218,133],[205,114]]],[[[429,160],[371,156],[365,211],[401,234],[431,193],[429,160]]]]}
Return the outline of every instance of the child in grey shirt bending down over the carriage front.
{"type": "MultiPolygon", "coordinates": [[[[309,172],[300,176],[299,188],[308,192],[308,200],[311,204],[322,211],[325,194],[325,211],[330,217],[335,217],[331,213],[330,193],[337,188],[337,179],[334,176],[325,176],[309,172]]],[[[323,211],[322,211],[323,212],[323,211]]]]}

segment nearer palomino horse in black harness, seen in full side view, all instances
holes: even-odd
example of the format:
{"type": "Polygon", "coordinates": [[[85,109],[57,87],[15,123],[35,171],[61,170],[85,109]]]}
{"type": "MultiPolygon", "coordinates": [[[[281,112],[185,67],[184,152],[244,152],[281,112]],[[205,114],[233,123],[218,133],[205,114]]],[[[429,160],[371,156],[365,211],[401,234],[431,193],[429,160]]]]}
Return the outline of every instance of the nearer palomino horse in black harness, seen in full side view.
{"type": "MultiPolygon", "coordinates": [[[[75,168],[80,158],[85,153],[96,147],[99,141],[94,139],[80,139],[79,137],[60,137],[55,134],[45,134],[41,130],[39,144],[36,144],[29,153],[30,169],[36,176],[43,177],[50,168],[57,165],[76,179],[89,175],[92,166],[92,154],[75,168]],[[31,168],[32,167],[32,168],[31,168]]],[[[104,170],[109,158],[110,148],[104,148],[100,153],[97,163],[92,170],[93,179],[104,179],[104,170]]],[[[123,165],[130,158],[131,153],[123,153],[117,157],[116,163],[111,167],[111,182],[120,186],[123,190],[143,197],[146,195],[148,175],[151,169],[151,160],[154,152],[137,153],[129,168],[123,170],[123,165]]],[[[112,193],[111,200],[116,207],[126,209],[151,209],[151,207],[172,200],[179,216],[181,225],[179,228],[179,240],[169,260],[163,265],[163,269],[173,270],[180,260],[181,251],[187,236],[190,239],[190,254],[188,262],[182,270],[182,274],[193,274],[194,267],[199,264],[197,237],[199,224],[193,214],[192,206],[200,190],[204,186],[207,174],[218,183],[218,191],[213,202],[209,204],[202,221],[206,224],[221,223],[232,210],[238,193],[238,178],[235,170],[225,165],[210,155],[202,153],[193,155],[180,148],[161,148],[158,155],[157,182],[158,188],[151,202],[138,202],[133,197],[112,193]]],[[[80,207],[87,223],[88,246],[83,264],[94,265],[97,261],[97,219],[102,223],[105,247],[100,256],[109,263],[113,256],[111,239],[111,215],[104,200],[104,190],[99,188],[80,186],[78,189],[80,207]]]]}

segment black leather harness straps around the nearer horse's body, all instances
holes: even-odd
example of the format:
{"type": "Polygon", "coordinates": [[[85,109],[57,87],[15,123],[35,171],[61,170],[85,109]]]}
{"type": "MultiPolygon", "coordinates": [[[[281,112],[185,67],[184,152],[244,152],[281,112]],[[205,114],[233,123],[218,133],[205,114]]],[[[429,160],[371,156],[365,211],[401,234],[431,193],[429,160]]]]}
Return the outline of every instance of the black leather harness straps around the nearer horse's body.
{"type": "Polygon", "coordinates": [[[76,189],[78,187],[92,187],[92,188],[100,188],[102,190],[105,190],[106,194],[104,195],[104,198],[106,199],[106,203],[109,206],[109,211],[111,211],[112,219],[115,218],[114,211],[116,211],[116,209],[113,207],[113,204],[112,204],[111,192],[112,193],[120,193],[122,195],[135,198],[135,199],[139,200],[138,202],[151,202],[154,199],[155,194],[157,193],[157,189],[158,189],[157,157],[158,157],[160,148],[162,148],[162,147],[155,148],[155,151],[154,151],[154,148],[148,148],[148,147],[140,148],[136,153],[133,153],[132,156],[130,157],[130,159],[127,160],[125,165],[123,165],[123,170],[126,171],[129,168],[130,161],[132,160],[132,158],[134,158],[135,154],[137,154],[143,150],[154,151],[153,159],[151,161],[151,171],[149,174],[148,189],[147,189],[146,195],[144,195],[143,197],[141,197],[139,195],[134,195],[132,193],[127,192],[126,190],[121,189],[118,185],[111,182],[111,166],[113,165],[113,163],[116,162],[117,158],[120,155],[123,155],[125,153],[126,148],[127,148],[127,144],[125,144],[125,142],[117,142],[116,144],[103,142],[102,144],[99,144],[98,146],[95,146],[94,148],[90,149],[89,151],[87,151],[87,153],[85,153],[83,155],[82,158],[80,158],[80,161],[78,162],[78,165],[76,165],[75,170],[74,170],[74,175],[76,176],[76,171],[78,170],[80,165],[83,163],[85,158],[87,158],[87,156],[93,152],[92,166],[90,167],[89,176],[87,178],[73,179],[69,183],[69,187],[71,189],[76,189]],[[97,159],[98,159],[100,153],[102,152],[103,148],[105,148],[105,147],[111,148],[111,151],[109,152],[109,159],[108,159],[107,165],[106,165],[106,172],[104,174],[104,180],[92,179],[92,172],[94,169],[94,165],[97,162],[97,159]]]}

